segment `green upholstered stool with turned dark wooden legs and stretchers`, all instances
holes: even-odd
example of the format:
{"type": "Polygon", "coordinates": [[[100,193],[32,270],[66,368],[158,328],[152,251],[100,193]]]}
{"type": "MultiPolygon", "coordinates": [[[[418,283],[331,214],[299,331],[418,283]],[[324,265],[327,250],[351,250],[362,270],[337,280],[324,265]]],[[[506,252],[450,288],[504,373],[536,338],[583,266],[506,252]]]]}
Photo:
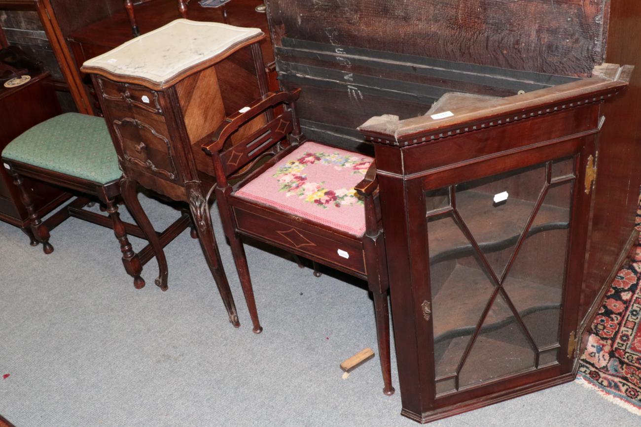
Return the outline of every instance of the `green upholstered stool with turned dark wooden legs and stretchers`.
{"type": "Polygon", "coordinates": [[[154,250],[147,245],[136,254],[127,234],[162,241],[160,247],[163,247],[190,223],[189,215],[183,212],[165,232],[157,235],[154,232],[149,236],[137,225],[122,222],[117,204],[122,172],[104,118],[78,113],[50,118],[11,141],[3,150],[2,158],[29,213],[31,232],[37,239],[32,244],[42,243],[45,254],[51,254],[53,246],[49,243],[49,231],[69,216],[110,227],[120,243],[125,270],[134,278],[134,286],[138,289],[145,286],[140,273],[143,264],[154,256],[154,250]],[[83,209],[91,200],[78,197],[44,223],[38,218],[28,190],[22,185],[23,176],[95,196],[106,207],[110,218],[83,209]]]}

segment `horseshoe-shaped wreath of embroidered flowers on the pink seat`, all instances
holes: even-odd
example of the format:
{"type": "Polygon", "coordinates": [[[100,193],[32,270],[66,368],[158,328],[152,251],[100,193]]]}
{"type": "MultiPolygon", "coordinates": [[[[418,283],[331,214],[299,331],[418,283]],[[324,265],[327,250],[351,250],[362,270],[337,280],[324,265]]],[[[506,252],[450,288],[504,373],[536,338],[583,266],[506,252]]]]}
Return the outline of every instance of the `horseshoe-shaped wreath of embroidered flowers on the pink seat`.
{"type": "Polygon", "coordinates": [[[345,156],[339,152],[304,152],[303,156],[279,167],[272,177],[278,180],[280,191],[285,191],[287,197],[296,195],[324,209],[327,209],[328,205],[341,207],[363,204],[363,198],[354,188],[329,189],[324,181],[309,182],[303,171],[306,166],[317,163],[336,170],[349,170],[353,174],[365,175],[372,161],[362,156],[345,156]]]}

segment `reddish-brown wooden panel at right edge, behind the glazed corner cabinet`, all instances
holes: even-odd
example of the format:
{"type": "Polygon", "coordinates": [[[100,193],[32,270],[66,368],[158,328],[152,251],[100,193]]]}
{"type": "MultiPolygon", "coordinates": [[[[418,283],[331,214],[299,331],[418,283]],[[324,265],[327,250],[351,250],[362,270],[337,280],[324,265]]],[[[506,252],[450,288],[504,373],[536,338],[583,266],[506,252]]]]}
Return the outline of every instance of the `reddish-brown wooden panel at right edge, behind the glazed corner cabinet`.
{"type": "Polygon", "coordinates": [[[635,227],[641,185],[641,4],[630,0],[612,3],[606,60],[637,65],[628,92],[617,102],[604,104],[606,122],[599,136],[598,175],[594,188],[594,212],[590,233],[590,255],[586,259],[585,286],[581,298],[583,328],[594,316],[590,305],[610,277],[619,269],[616,259],[626,252],[626,242],[635,227]]]}

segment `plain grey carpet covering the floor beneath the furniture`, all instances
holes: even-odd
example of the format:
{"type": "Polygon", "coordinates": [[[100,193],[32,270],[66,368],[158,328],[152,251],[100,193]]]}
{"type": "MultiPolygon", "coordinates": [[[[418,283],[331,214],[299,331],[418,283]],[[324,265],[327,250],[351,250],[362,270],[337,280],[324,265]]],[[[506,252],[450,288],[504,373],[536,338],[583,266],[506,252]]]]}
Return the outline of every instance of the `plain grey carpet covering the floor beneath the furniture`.
{"type": "MultiPolygon", "coordinates": [[[[143,199],[158,227],[177,216],[143,199]]],[[[341,378],[342,360],[376,350],[364,285],[315,278],[282,254],[247,246],[265,328],[254,335],[215,208],[212,217],[239,329],[188,230],[166,248],[163,293],[153,284],[155,260],[143,271],[147,286],[133,288],[109,229],[72,218],[53,230],[55,252],[44,255],[0,222],[0,414],[18,427],[417,425],[399,415],[398,392],[382,394],[378,359],[341,378]]],[[[569,383],[432,425],[638,422],[569,383]]]]}

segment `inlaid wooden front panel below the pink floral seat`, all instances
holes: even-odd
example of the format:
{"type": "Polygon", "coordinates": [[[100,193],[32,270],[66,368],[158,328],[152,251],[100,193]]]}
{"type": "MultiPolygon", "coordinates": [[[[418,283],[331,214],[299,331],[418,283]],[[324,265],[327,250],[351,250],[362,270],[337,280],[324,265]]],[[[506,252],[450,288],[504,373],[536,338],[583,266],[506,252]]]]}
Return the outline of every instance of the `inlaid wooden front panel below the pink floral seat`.
{"type": "MultiPolygon", "coordinates": [[[[255,207],[252,206],[251,209],[254,210],[255,207]]],[[[281,216],[282,221],[275,220],[274,215],[278,214],[271,211],[265,210],[265,216],[257,216],[256,212],[249,213],[239,206],[234,206],[233,211],[238,229],[250,236],[268,239],[276,246],[289,248],[292,252],[309,254],[310,258],[317,258],[330,266],[342,266],[343,270],[366,274],[363,245],[358,239],[342,236],[328,239],[320,235],[322,230],[315,232],[313,227],[303,228],[296,220],[287,216],[281,216]]]]}

